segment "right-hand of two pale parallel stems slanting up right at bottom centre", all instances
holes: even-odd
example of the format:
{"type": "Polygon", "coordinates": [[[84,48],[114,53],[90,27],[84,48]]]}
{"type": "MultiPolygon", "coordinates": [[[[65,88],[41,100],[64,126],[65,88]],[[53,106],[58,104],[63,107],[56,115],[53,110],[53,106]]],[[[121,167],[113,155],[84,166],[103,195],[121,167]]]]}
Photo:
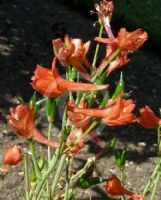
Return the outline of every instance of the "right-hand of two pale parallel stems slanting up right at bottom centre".
{"type": "Polygon", "coordinates": [[[61,159],[60,159],[60,163],[59,163],[59,166],[55,172],[55,178],[54,178],[54,181],[53,181],[53,184],[52,184],[52,187],[51,187],[51,195],[54,196],[54,193],[55,193],[55,190],[56,190],[56,186],[57,186],[57,183],[60,179],[60,176],[61,176],[61,173],[64,169],[64,165],[65,165],[65,161],[66,161],[66,154],[63,154],[61,159]]]}

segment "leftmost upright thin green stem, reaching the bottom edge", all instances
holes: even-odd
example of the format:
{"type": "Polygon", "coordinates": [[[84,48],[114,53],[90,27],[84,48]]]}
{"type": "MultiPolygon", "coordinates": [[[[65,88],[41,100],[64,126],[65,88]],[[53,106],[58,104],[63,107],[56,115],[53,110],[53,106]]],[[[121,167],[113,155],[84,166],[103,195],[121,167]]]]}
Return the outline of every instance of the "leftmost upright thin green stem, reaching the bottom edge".
{"type": "Polygon", "coordinates": [[[28,153],[24,152],[24,173],[25,173],[25,195],[29,200],[29,172],[28,172],[28,153]]]}

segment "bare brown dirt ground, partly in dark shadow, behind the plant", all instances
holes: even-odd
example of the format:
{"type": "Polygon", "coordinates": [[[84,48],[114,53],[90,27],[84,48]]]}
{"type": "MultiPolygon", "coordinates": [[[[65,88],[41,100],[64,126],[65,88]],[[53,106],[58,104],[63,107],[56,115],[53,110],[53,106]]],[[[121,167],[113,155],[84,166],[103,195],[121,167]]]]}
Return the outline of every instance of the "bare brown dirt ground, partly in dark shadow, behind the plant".
{"type": "MultiPolygon", "coordinates": [[[[24,141],[7,127],[5,116],[8,108],[16,104],[17,96],[29,99],[32,95],[29,83],[36,64],[49,66],[53,58],[51,40],[65,33],[73,38],[81,37],[84,41],[91,40],[98,33],[93,23],[55,1],[0,0],[0,163],[6,146],[18,143],[25,147],[24,141]]],[[[151,49],[139,50],[130,57],[132,61],[123,70],[126,91],[133,91],[132,98],[138,107],[147,104],[158,112],[161,107],[161,58],[151,49]]],[[[119,74],[119,71],[112,74],[109,83],[116,84],[119,74]]],[[[43,122],[39,125],[45,132],[47,124],[43,122]]],[[[57,128],[54,130],[58,131],[57,128]]],[[[156,163],[156,133],[136,125],[100,128],[98,135],[105,142],[115,135],[120,141],[118,148],[128,147],[127,187],[141,192],[156,163]]],[[[93,156],[99,148],[90,141],[80,152],[76,167],[85,161],[85,153],[87,157],[93,156]]],[[[22,172],[20,164],[9,174],[0,174],[0,200],[21,199],[22,172]]],[[[100,160],[96,173],[103,177],[111,173],[118,174],[114,168],[114,158],[100,160]]],[[[89,199],[89,194],[95,200],[108,199],[99,186],[78,194],[80,200],[89,199]]],[[[161,185],[156,194],[156,200],[160,199],[161,185]]]]}

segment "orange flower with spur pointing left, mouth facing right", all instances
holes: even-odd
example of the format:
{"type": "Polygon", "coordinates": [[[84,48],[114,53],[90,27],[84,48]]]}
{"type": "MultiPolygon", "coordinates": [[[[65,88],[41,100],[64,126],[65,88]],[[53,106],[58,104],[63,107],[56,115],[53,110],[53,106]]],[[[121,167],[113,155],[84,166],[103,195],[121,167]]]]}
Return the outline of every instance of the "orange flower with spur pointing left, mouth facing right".
{"type": "Polygon", "coordinates": [[[122,93],[115,100],[110,100],[106,108],[75,108],[75,113],[81,113],[86,116],[102,118],[101,122],[108,126],[120,126],[134,123],[136,120],[132,111],[135,104],[132,99],[121,99],[122,93]]]}

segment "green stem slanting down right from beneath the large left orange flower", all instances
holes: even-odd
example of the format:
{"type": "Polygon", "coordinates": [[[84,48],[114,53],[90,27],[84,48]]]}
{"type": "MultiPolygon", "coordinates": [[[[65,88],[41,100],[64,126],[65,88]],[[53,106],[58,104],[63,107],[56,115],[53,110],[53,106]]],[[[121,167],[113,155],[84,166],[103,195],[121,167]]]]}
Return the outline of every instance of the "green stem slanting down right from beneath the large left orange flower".
{"type": "Polygon", "coordinates": [[[37,177],[37,179],[41,179],[41,172],[40,172],[37,160],[36,160],[36,153],[35,153],[34,143],[33,143],[32,140],[29,141],[29,146],[30,146],[30,150],[31,150],[31,153],[32,153],[32,161],[33,161],[33,164],[34,164],[36,177],[37,177]]]}

